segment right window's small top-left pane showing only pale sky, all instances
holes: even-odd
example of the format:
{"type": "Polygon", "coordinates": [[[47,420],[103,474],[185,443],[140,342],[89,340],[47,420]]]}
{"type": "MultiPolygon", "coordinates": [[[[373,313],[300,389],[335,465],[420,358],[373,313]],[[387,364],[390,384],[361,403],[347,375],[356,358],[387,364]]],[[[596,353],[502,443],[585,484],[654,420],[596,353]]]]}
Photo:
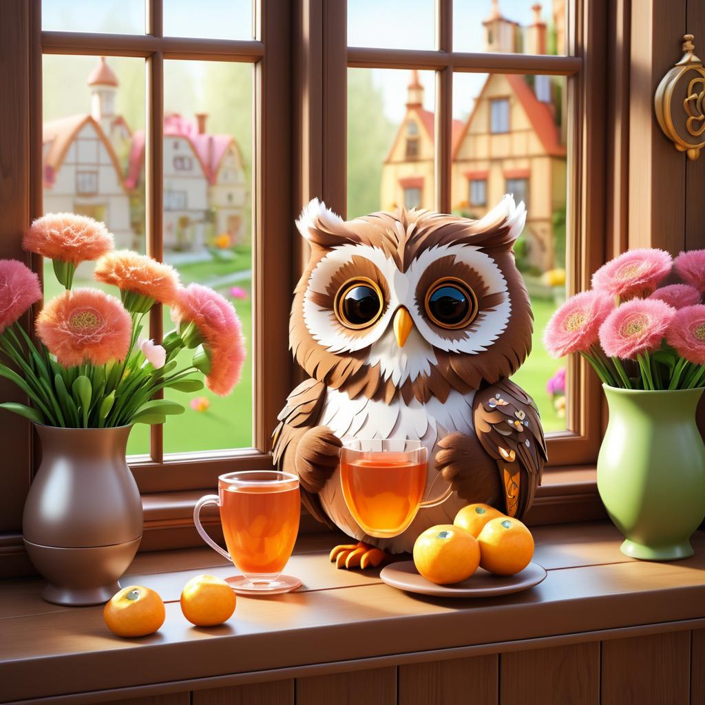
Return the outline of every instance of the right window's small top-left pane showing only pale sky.
{"type": "Polygon", "coordinates": [[[434,0],[348,0],[348,45],[434,49],[434,0]]]}

